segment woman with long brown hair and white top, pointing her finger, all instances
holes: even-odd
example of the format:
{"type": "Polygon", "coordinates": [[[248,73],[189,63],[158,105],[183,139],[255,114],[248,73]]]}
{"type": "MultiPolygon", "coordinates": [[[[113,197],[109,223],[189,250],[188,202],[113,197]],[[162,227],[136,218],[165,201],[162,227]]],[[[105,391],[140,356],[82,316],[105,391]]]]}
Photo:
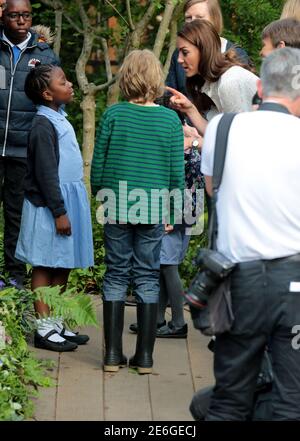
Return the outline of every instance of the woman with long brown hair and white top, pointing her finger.
{"type": "Polygon", "coordinates": [[[168,87],[173,93],[171,102],[200,134],[218,113],[251,110],[258,77],[234,50],[221,52],[220,37],[210,22],[199,19],[186,23],[178,33],[177,48],[191,100],[168,87]]]}

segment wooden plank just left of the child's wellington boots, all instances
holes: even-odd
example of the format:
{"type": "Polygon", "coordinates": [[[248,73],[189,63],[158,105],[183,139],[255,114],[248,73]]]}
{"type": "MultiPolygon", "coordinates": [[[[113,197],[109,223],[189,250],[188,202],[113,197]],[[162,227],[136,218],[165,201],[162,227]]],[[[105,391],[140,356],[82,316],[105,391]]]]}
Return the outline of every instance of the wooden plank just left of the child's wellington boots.
{"type": "MultiPolygon", "coordinates": [[[[101,301],[96,301],[100,319],[101,301]]],[[[100,324],[102,320],[100,320],[100,324]]],[[[90,341],[74,352],[61,354],[56,421],[103,420],[102,330],[82,329],[90,341]]]]}

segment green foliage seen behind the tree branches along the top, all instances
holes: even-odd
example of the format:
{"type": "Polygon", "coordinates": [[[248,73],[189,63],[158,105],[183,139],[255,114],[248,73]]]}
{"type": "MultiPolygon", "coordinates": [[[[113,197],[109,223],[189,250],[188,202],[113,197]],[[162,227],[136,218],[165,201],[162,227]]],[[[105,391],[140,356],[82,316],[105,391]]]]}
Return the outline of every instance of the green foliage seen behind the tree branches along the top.
{"type": "MultiPolygon", "coordinates": [[[[70,8],[72,19],[80,25],[80,21],[78,21],[78,13],[75,9],[75,2],[64,0],[64,3],[70,8]]],[[[84,2],[87,9],[89,6],[100,8],[101,20],[99,26],[101,27],[101,33],[103,36],[110,36],[111,43],[117,48],[117,53],[121,54],[126,36],[129,32],[129,28],[125,22],[126,5],[123,0],[112,0],[111,3],[118,9],[120,15],[123,17],[120,18],[119,16],[117,34],[113,33],[113,31],[107,27],[108,19],[112,16],[117,16],[116,12],[111,6],[109,6],[109,4],[104,0],[86,0],[84,2]]],[[[158,15],[162,11],[163,2],[157,0],[156,3],[156,15],[158,15]]],[[[225,25],[223,35],[231,41],[240,44],[245,50],[247,50],[257,69],[259,69],[259,50],[261,47],[262,29],[271,21],[280,18],[284,0],[220,0],[220,3],[225,25]]],[[[137,0],[132,0],[131,4],[133,20],[138,22],[142,14],[145,12],[145,6],[140,6],[137,0]]],[[[54,30],[54,12],[40,2],[33,1],[32,5],[34,8],[34,24],[43,24],[54,30]]],[[[181,22],[182,20],[179,22],[179,26],[181,25],[181,22]]],[[[143,43],[144,47],[152,47],[158,24],[158,21],[154,17],[151,22],[153,30],[145,35],[143,43]]],[[[64,20],[60,58],[62,67],[66,71],[68,78],[70,78],[75,85],[75,99],[74,102],[68,106],[67,111],[70,120],[76,129],[79,141],[82,140],[82,113],[80,109],[82,94],[77,87],[74,67],[81,52],[82,40],[82,35],[74,31],[73,27],[67,22],[67,20],[64,20]]],[[[98,49],[100,49],[100,43],[98,44],[98,49]]],[[[166,57],[168,44],[169,41],[167,38],[165,48],[162,52],[162,60],[166,57]]],[[[97,45],[95,49],[97,49],[97,45]]],[[[119,62],[121,61],[122,59],[120,58],[119,62]]],[[[97,63],[94,60],[91,61],[90,64],[93,65],[95,72],[94,74],[89,75],[89,79],[95,82],[95,84],[105,82],[104,63],[97,63]]],[[[99,93],[97,96],[97,120],[100,119],[100,116],[105,109],[105,103],[106,91],[99,93]]]]}

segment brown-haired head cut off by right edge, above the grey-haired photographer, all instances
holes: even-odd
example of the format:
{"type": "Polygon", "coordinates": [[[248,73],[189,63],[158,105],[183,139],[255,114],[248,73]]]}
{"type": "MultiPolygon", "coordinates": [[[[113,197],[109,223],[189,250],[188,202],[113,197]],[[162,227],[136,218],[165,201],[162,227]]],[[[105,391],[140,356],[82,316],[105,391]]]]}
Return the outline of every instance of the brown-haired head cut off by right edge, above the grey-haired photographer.
{"type": "Polygon", "coordinates": [[[261,57],[283,47],[300,48],[300,21],[295,18],[273,21],[262,31],[261,57]]]}

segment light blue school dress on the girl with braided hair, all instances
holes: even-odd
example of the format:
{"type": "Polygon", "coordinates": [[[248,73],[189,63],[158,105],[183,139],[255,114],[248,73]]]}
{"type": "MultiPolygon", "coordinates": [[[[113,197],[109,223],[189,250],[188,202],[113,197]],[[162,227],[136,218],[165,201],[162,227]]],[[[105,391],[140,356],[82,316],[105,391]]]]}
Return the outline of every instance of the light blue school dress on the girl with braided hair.
{"type": "Polygon", "coordinates": [[[36,207],[25,199],[16,258],[32,266],[87,268],[94,265],[90,205],[83,182],[83,161],[66,113],[38,107],[38,115],[54,125],[59,142],[58,176],[72,235],[56,233],[49,208],[36,207]]]}

